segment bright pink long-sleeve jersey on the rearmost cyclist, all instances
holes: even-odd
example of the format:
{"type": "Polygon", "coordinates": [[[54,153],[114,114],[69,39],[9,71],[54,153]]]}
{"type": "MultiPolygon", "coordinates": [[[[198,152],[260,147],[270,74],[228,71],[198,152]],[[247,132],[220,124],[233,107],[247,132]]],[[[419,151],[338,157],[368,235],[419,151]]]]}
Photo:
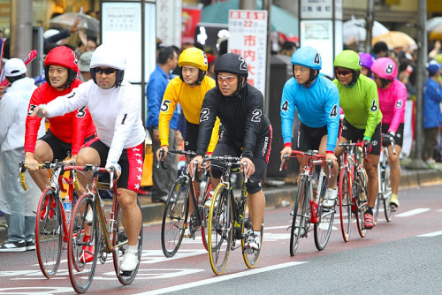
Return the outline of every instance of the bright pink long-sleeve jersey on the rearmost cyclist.
{"type": "Polygon", "coordinates": [[[405,119],[407,88],[400,80],[394,79],[388,89],[377,88],[382,124],[390,125],[388,132],[396,132],[405,119]]]}

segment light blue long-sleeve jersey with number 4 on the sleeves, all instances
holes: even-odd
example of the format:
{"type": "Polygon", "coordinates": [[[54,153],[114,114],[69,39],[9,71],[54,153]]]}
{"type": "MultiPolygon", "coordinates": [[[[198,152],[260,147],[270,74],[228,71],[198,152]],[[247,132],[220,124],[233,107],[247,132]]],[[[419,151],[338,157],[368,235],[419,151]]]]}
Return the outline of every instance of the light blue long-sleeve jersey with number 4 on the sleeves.
{"type": "Polygon", "coordinates": [[[339,132],[339,93],[331,80],[317,76],[309,87],[294,78],[286,81],[281,99],[284,144],[292,143],[295,110],[302,124],[312,128],[327,126],[327,151],[334,151],[339,132]]]}

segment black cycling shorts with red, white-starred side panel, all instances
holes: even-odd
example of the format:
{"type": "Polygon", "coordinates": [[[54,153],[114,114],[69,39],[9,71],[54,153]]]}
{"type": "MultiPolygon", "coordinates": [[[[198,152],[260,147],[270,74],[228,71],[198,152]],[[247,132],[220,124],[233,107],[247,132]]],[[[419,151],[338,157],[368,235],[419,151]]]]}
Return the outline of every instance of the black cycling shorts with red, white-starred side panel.
{"type": "MultiPolygon", "coordinates": [[[[100,155],[100,167],[106,166],[110,147],[107,147],[101,140],[95,138],[89,140],[84,147],[94,148],[100,155]]],[[[118,188],[126,188],[138,192],[141,184],[141,171],[144,162],[144,142],[136,147],[123,149],[118,160],[121,167],[121,175],[117,180],[118,188]],[[140,170],[141,169],[141,170],[140,170]]]]}

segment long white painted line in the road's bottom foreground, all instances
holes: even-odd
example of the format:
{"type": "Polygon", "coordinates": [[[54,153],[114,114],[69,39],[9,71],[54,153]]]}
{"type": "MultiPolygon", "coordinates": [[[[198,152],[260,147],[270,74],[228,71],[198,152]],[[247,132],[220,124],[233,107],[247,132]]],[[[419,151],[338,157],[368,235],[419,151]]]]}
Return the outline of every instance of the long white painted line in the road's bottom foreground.
{"type": "Polygon", "coordinates": [[[163,289],[141,292],[138,294],[139,295],[141,295],[141,294],[142,295],[151,295],[151,294],[164,294],[164,293],[171,292],[171,291],[181,291],[183,289],[199,287],[204,284],[213,284],[213,283],[227,281],[227,280],[230,280],[233,278],[238,278],[241,276],[251,276],[251,275],[255,275],[255,274],[259,274],[259,273],[263,273],[263,272],[271,271],[271,270],[275,270],[275,269],[290,268],[290,267],[304,264],[307,262],[308,261],[293,261],[293,262],[287,262],[287,263],[278,264],[278,265],[274,265],[274,266],[270,266],[270,267],[265,267],[262,269],[248,269],[248,270],[241,271],[241,272],[235,273],[235,274],[230,274],[230,275],[225,275],[225,276],[216,276],[216,277],[212,277],[207,280],[202,280],[202,281],[187,283],[187,284],[179,284],[179,285],[175,285],[175,286],[171,286],[171,287],[167,287],[167,288],[163,288],[163,289]]]}

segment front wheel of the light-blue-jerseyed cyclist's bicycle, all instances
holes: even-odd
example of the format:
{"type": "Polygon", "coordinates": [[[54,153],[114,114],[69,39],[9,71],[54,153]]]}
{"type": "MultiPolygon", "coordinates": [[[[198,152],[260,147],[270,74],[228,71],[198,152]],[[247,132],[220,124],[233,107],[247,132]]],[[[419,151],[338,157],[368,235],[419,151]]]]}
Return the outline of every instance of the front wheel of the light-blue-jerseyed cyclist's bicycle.
{"type": "Polygon", "coordinates": [[[296,195],[296,200],[294,201],[293,206],[293,221],[292,228],[290,231],[290,255],[293,256],[298,249],[298,245],[300,244],[301,236],[304,237],[307,234],[306,222],[305,222],[305,214],[306,214],[306,205],[309,202],[309,184],[305,178],[301,178],[301,184],[298,188],[298,193],[296,195]],[[299,204],[302,200],[301,204],[301,213],[299,213],[299,204]],[[303,229],[303,230],[302,230],[303,229]],[[304,232],[301,232],[304,231],[304,232]]]}

